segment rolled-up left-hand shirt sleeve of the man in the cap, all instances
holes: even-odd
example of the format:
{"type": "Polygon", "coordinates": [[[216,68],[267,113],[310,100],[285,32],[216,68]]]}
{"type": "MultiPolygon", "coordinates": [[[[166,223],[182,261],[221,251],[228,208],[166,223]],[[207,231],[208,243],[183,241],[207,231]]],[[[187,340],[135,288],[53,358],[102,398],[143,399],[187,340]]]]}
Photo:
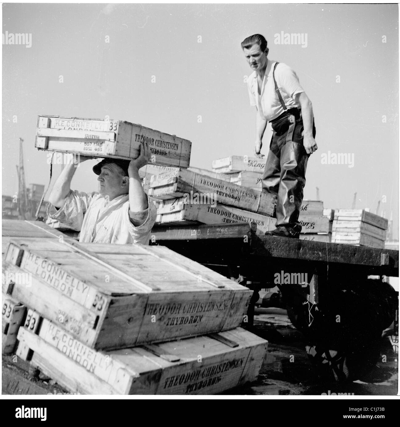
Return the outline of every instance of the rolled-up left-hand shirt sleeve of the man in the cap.
{"type": "Polygon", "coordinates": [[[63,224],[69,225],[74,230],[80,231],[85,215],[93,196],[97,193],[80,193],[77,190],[70,190],[65,202],[57,211],[56,207],[49,203],[47,205],[47,216],[56,219],[63,224]]]}

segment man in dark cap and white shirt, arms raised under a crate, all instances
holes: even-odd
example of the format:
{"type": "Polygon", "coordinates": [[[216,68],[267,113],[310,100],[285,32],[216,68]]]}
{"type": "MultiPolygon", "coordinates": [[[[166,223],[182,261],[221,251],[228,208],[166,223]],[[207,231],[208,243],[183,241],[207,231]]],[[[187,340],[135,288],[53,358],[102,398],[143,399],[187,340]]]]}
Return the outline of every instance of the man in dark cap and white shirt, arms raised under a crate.
{"type": "MultiPolygon", "coordinates": [[[[135,160],[105,158],[95,164],[100,192],[91,194],[71,190],[76,170],[71,161],[54,184],[47,215],[80,230],[80,242],[148,245],[157,211],[143,191],[138,170],[150,155],[148,144],[142,143],[135,160]]],[[[80,156],[80,161],[88,159],[80,156]]]]}

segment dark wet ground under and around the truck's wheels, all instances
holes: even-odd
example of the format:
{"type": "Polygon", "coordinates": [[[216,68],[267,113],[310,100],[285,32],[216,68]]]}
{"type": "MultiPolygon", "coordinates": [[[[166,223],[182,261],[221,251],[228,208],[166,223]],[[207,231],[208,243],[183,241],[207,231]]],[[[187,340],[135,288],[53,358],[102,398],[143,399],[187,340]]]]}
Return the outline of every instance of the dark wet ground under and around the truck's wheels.
{"type": "Polygon", "coordinates": [[[302,333],[290,323],[286,310],[259,309],[252,332],[269,343],[258,380],[225,395],[397,395],[398,354],[388,339],[382,340],[382,357],[373,371],[357,381],[336,383],[317,377],[302,333]]]}

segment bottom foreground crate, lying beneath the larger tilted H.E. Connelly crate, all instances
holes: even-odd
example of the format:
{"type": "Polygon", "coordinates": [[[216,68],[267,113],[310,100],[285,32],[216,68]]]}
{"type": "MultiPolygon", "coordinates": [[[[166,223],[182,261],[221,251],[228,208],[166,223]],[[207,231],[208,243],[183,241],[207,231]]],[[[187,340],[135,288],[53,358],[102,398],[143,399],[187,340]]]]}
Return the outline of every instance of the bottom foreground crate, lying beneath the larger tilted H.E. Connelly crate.
{"type": "Polygon", "coordinates": [[[89,395],[210,395],[256,380],[268,342],[242,328],[104,353],[43,319],[21,343],[32,363],[70,392],[89,395]]]}

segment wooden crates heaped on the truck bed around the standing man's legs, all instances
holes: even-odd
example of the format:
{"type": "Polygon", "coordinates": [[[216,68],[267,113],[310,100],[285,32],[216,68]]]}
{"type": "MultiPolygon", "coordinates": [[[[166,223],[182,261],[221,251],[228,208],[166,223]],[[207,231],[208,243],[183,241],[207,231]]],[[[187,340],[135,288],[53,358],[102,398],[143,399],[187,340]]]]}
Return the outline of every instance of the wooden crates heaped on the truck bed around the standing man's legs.
{"type": "MultiPolygon", "coordinates": [[[[276,228],[276,197],[261,192],[264,167],[263,159],[231,156],[213,161],[212,171],[148,165],[140,172],[156,199],[158,225],[255,222],[256,232],[265,234],[276,228]]],[[[299,221],[300,238],[329,241],[332,222],[323,216],[323,202],[304,200],[299,221]]]]}

